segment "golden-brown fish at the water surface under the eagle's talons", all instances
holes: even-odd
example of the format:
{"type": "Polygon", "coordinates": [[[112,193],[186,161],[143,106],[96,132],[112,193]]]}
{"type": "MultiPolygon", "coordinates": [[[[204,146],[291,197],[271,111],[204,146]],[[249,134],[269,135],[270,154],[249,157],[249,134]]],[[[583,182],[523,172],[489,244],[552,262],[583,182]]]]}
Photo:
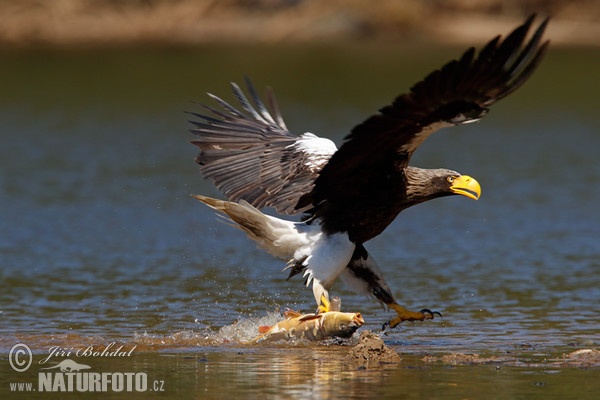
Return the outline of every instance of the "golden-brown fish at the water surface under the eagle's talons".
{"type": "Polygon", "coordinates": [[[286,317],[285,320],[270,327],[259,327],[260,335],[251,340],[251,343],[349,338],[365,323],[360,313],[340,311],[300,314],[293,310],[286,310],[283,315],[286,317]]]}

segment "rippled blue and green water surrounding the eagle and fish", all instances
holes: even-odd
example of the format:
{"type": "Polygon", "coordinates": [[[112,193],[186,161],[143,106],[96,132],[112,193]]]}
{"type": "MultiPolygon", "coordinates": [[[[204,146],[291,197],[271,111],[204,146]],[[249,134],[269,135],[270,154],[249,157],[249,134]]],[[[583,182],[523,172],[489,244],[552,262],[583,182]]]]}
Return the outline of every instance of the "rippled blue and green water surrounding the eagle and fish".
{"type": "MultiPolygon", "coordinates": [[[[584,398],[597,390],[593,370],[546,364],[597,346],[600,332],[595,51],[555,49],[482,122],[436,133],[415,154],[415,165],[476,177],[483,195],[407,210],[367,244],[401,304],[444,314],[384,337],[402,366],[355,370],[342,361],[345,346],[238,343],[274,322],[278,308],[311,311],[312,293],[189,196],[219,193],[199,176],[183,111],[207,101],[206,91],[231,99],[227,83],[248,75],[275,88],[292,130],[339,143],[459,54],[389,46],[4,52],[2,390],[25,376],[6,362],[16,343],[33,349],[34,362],[52,346],[137,346],[131,358],[88,364],[145,372],[171,396],[584,398]],[[500,369],[422,361],[515,351],[534,361],[500,369]],[[419,385],[407,391],[401,382],[419,385]]],[[[342,284],[333,292],[345,310],[363,313],[363,329],[391,316],[342,284]]]]}

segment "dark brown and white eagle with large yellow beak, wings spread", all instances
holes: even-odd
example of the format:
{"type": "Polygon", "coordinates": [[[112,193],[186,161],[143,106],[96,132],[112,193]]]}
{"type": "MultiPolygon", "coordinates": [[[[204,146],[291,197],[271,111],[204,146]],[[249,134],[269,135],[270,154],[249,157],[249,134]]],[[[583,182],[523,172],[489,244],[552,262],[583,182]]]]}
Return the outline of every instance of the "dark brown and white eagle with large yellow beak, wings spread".
{"type": "Polygon", "coordinates": [[[227,200],[196,199],[287,262],[288,279],[302,274],[317,312],[331,309],[329,290],[340,278],[396,312],[384,328],[441,317],[398,304],[364,244],[408,207],[452,195],[479,199],[474,178],[410,159],[432,133],[478,121],[531,76],[549,43],[542,42],[548,18],[529,35],[535,18],[427,75],[356,125],[339,149],[313,133],[290,132],[273,91],[263,101],[247,78],[245,92],[231,83],[239,105],[209,93],[216,105],[190,113],[191,143],[200,149],[200,172],[227,200]],[[278,218],[263,213],[266,207],[300,217],[278,218]]]}

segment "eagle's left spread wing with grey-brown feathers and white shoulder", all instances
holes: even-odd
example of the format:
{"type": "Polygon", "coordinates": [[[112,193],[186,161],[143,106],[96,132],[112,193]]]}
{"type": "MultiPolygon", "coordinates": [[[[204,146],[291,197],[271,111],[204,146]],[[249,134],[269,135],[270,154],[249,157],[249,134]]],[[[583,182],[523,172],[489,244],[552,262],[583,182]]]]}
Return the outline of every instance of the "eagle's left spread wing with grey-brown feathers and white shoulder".
{"type": "Polygon", "coordinates": [[[298,199],[312,190],[335,144],[311,133],[291,134],[273,92],[267,91],[267,107],[248,79],[246,85],[252,102],[231,84],[243,111],[209,94],[219,107],[204,106],[210,115],[192,113],[200,119],[191,121],[191,132],[198,135],[192,143],[200,148],[196,162],[230,201],[285,214],[302,212],[298,199]]]}

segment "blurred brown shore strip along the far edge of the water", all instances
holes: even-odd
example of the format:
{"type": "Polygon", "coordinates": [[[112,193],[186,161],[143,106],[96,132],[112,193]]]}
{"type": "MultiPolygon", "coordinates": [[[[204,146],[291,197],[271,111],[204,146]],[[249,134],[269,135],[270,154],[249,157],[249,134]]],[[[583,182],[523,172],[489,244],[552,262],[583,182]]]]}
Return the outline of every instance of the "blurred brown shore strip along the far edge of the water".
{"type": "Polygon", "coordinates": [[[0,0],[0,46],[474,44],[534,12],[554,45],[600,45],[595,0],[0,0]]]}

